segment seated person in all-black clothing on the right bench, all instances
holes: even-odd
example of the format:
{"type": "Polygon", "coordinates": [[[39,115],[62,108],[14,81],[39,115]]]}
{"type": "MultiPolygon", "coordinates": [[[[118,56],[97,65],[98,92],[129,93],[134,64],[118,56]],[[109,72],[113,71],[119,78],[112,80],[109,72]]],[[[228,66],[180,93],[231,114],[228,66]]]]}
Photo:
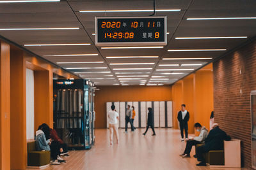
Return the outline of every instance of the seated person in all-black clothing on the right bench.
{"type": "Polygon", "coordinates": [[[210,150],[223,150],[223,141],[230,141],[230,136],[226,132],[222,131],[218,124],[214,123],[212,130],[209,132],[207,138],[205,138],[205,144],[196,148],[196,157],[200,162],[196,166],[206,166],[203,153],[210,150]]]}

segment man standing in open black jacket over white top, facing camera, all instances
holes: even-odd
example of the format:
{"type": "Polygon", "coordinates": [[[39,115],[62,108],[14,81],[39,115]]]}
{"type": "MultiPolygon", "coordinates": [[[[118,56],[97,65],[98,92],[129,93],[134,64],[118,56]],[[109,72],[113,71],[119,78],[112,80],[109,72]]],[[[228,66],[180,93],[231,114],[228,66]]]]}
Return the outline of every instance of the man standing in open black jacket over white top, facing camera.
{"type": "Polygon", "coordinates": [[[188,120],[189,112],[186,110],[186,105],[181,104],[181,110],[178,113],[178,121],[180,124],[181,141],[184,141],[183,131],[185,130],[186,139],[188,139],[188,120]]]}

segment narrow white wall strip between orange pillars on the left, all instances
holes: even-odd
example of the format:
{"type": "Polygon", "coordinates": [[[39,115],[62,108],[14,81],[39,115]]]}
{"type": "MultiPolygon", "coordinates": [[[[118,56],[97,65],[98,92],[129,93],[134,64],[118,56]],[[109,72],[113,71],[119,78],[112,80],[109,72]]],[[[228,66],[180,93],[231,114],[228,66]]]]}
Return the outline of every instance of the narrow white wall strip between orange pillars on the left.
{"type": "Polygon", "coordinates": [[[34,71],[26,69],[27,139],[35,138],[34,106],[34,71]]]}

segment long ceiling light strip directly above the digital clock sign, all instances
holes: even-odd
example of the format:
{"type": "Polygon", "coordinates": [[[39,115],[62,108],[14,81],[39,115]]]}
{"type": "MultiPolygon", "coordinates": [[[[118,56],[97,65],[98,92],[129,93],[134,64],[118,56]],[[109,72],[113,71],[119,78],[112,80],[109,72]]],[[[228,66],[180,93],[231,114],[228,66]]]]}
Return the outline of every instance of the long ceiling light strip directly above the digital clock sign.
{"type": "MultiPolygon", "coordinates": [[[[158,12],[181,11],[180,9],[156,10],[158,12]]],[[[154,10],[81,10],[81,13],[106,13],[106,12],[154,12],[154,10]]]]}

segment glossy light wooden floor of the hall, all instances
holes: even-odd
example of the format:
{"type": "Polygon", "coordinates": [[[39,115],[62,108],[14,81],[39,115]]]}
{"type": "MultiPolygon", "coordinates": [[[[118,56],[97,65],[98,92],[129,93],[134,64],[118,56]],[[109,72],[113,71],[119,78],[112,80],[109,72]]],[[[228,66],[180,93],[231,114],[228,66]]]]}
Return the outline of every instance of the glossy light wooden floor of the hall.
{"type": "MultiPolygon", "coordinates": [[[[119,130],[120,143],[109,144],[109,131],[97,129],[95,132],[96,144],[91,150],[71,151],[65,158],[67,163],[60,166],[50,166],[47,169],[62,170],[194,170],[212,169],[227,170],[234,168],[196,167],[196,159],[182,159],[185,147],[180,142],[180,133],[173,129],[156,129],[156,136],[151,136],[151,129],[146,136],[145,129],[136,129],[135,132],[124,134],[119,130]]],[[[193,148],[191,155],[195,153],[193,148]]],[[[239,169],[238,169],[239,170],[239,169]]]]}

